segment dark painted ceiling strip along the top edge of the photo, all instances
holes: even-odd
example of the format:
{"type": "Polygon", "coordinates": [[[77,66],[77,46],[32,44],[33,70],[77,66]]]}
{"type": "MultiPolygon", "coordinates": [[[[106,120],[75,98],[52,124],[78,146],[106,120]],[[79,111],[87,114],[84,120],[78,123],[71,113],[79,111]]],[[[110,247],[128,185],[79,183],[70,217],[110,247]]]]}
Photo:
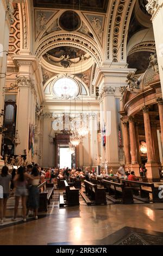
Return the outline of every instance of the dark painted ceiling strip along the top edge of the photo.
{"type": "Polygon", "coordinates": [[[96,11],[106,13],[109,0],[34,0],[34,7],[96,11]]]}

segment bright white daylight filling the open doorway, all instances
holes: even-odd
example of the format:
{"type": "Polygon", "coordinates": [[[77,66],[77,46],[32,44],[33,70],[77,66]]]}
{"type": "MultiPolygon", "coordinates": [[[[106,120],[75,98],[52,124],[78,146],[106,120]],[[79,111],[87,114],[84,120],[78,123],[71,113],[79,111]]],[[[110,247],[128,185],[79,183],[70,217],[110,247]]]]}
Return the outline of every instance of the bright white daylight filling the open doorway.
{"type": "Polygon", "coordinates": [[[60,148],[60,168],[71,169],[71,153],[69,148],[60,148]]]}

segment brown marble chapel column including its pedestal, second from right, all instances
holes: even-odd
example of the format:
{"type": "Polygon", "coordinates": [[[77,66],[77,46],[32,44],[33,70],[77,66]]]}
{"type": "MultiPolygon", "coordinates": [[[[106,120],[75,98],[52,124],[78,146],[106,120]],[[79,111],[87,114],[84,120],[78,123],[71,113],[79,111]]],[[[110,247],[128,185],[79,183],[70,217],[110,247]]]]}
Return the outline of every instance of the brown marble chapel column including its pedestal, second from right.
{"type": "Polygon", "coordinates": [[[155,162],[155,157],[154,157],[149,109],[147,106],[145,106],[142,108],[142,111],[143,111],[143,118],[145,123],[145,136],[146,136],[146,144],[147,144],[147,158],[148,158],[148,161],[146,163],[147,178],[149,179],[149,181],[155,181],[154,179],[159,178],[159,172],[158,172],[158,164],[155,162]]]}

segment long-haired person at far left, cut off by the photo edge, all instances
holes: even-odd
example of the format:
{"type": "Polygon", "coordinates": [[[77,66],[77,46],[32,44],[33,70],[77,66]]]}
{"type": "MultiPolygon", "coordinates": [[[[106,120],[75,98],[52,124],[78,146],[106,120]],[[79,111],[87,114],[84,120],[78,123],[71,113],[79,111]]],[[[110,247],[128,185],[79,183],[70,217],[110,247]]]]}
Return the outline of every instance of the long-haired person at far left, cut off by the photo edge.
{"type": "Polygon", "coordinates": [[[7,166],[2,167],[2,172],[0,175],[0,185],[3,187],[3,194],[0,194],[0,217],[2,224],[5,218],[5,211],[7,208],[7,200],[9,198],[10,193],[10,181],[11,175],[9,174],[9,168],[7,166]]]}

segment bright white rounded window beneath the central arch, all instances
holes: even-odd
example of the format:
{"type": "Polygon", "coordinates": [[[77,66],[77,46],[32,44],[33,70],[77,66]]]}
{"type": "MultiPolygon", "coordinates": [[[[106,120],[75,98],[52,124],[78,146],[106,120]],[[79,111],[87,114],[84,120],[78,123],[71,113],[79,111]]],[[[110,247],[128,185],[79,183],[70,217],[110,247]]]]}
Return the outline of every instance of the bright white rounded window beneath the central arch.
{"type": "Polygon", "coordinates": [[[60,78],[53,86],[53,93],[59,97],[61,96],[71,96],[75,97],[78,94],[78,85],[71,78],[60,78]]]}

